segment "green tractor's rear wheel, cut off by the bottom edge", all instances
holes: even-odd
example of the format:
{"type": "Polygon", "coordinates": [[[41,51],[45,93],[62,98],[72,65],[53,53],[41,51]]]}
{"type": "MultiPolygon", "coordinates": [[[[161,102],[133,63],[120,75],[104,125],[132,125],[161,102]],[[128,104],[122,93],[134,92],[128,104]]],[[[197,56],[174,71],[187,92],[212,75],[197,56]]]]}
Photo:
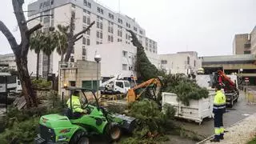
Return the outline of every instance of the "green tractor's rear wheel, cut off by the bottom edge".
{"type": "Polygon", "coordinates": [[[89,138],[84,131],[78,130],[70,139],[70,144],[89,144],[89,138]]]}

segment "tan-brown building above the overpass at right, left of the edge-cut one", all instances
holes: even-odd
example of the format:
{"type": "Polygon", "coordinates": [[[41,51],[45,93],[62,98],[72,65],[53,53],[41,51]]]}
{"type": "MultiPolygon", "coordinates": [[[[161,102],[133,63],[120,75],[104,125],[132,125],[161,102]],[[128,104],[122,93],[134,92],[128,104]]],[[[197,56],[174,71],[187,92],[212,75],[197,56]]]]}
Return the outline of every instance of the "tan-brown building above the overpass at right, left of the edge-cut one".
{"type": "Polygon", "coordinates": [[[250,34],[235,34],[233,54],[250,54],[250,34]]]}

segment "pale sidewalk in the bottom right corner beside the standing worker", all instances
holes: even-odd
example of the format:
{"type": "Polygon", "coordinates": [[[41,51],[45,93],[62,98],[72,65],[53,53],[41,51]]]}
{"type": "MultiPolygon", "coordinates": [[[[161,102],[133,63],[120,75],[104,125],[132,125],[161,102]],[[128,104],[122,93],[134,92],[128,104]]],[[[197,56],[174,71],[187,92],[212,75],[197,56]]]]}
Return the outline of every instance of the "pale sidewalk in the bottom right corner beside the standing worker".
{"type": "Polygon", "coordinates": [[[246,144],[256,136],[256,113],[234,124],[234,126],[226,128],[226,130],[229,132],[225,133],[224,140],[221,142],[210,142],[211,138],[208,138],[198,143],[246,144]]]}

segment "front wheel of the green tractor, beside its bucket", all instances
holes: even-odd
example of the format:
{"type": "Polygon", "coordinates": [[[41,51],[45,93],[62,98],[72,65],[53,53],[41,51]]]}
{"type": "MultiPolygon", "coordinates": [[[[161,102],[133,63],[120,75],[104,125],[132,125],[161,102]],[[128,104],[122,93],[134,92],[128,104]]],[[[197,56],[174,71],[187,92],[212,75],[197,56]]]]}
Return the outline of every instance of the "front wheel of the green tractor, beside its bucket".
{"type": "Polygon", "coordinates": [[[105,129],[106,137],[110,142],[118,141],[121,138],[122,130],[114,123],[110,123],[105,129]]]}

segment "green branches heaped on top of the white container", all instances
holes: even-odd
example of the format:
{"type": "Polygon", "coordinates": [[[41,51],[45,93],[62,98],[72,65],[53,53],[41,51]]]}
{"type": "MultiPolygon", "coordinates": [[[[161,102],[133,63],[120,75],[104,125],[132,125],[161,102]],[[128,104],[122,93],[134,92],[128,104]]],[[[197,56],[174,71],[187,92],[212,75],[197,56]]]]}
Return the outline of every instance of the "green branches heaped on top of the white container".
{"type": "Polygon", "coordinates": [[[162,91],[177,94],[177,100],[184,105],[189,106],[190,100],[198,100],[208,98],[208,90],[198,86],[190,78],[186,78],[182,74],[169,74],[164,77],[162,91]]]}

